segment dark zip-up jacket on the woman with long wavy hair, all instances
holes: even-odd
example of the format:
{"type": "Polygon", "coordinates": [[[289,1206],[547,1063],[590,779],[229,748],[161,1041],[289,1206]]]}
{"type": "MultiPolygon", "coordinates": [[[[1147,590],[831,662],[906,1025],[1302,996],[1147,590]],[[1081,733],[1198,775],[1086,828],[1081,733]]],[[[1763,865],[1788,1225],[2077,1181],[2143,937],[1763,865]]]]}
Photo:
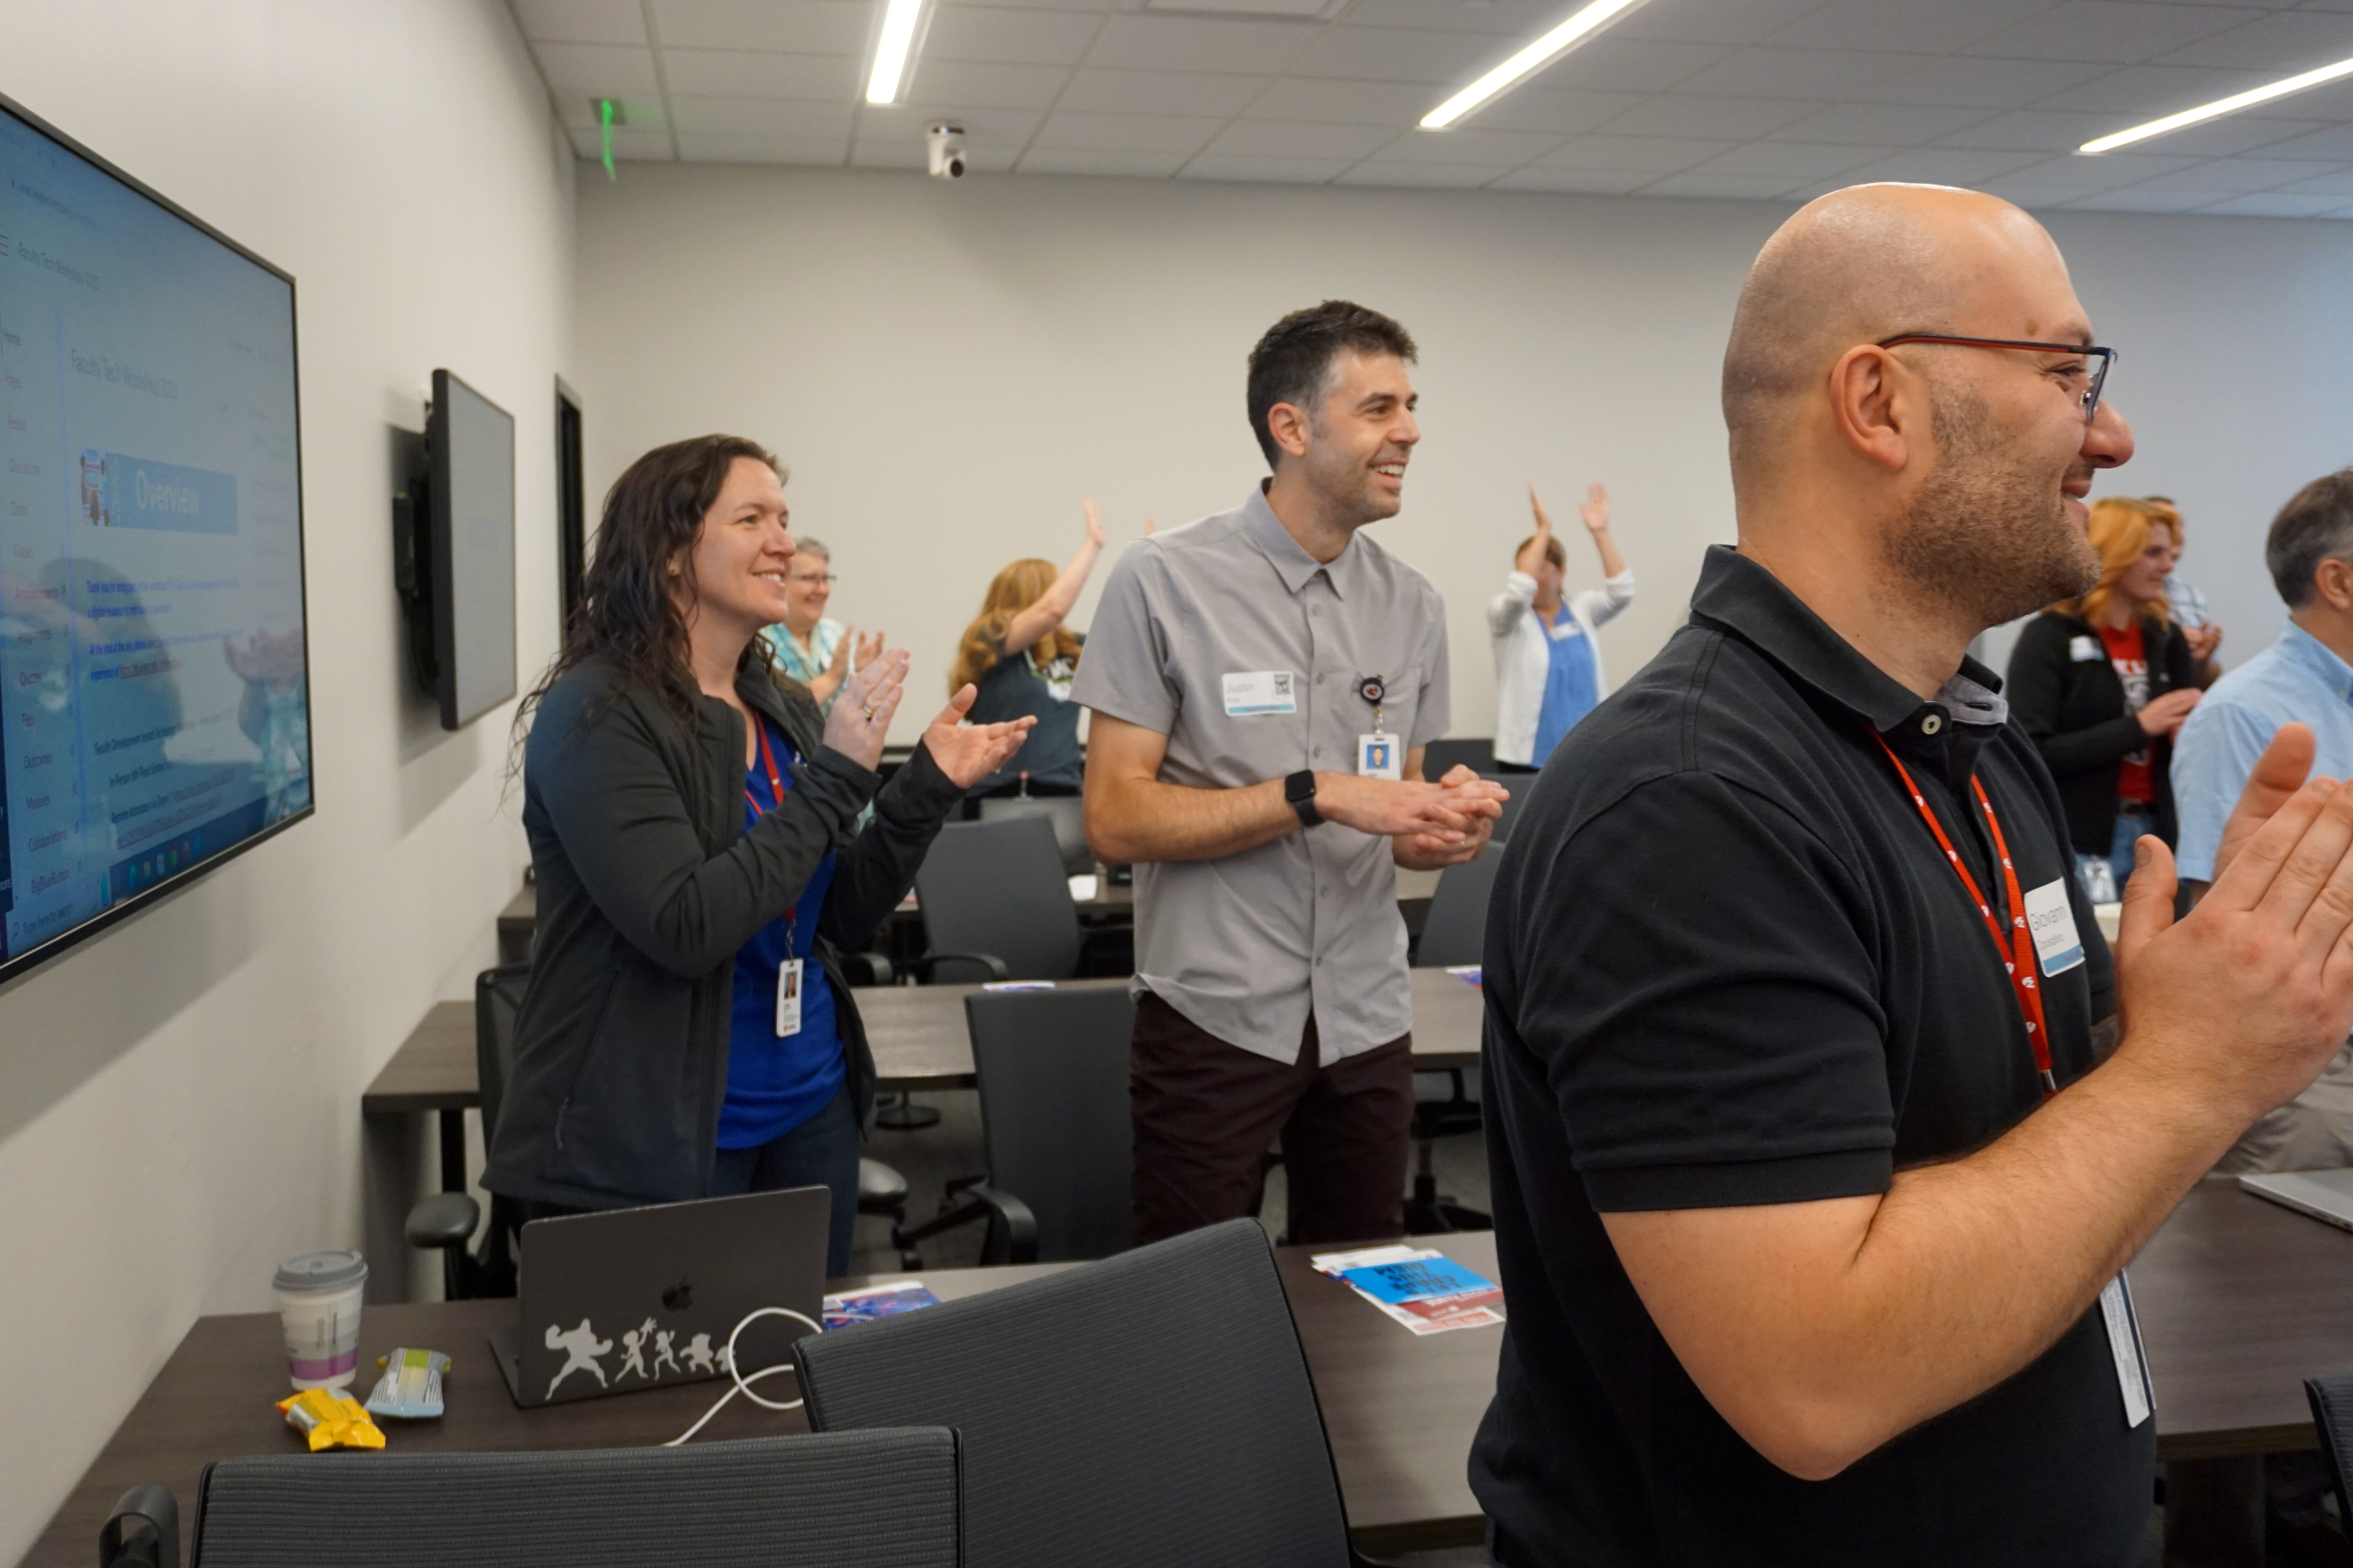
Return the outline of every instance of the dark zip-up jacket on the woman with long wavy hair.
{"type": "Polygon", "coordinates": [[[824,719],[765,670],[736,693],[805,759],[744,830],[744,719],[704,696],[694,733],[645,686],[586,661],[539,703],[522,827],[539,879],[515,1070],[482,1185],[569,1208],[704,1197],[727,1095],[734,957],[840,851],[816,924],[864,1124],[875,1065],[840,950],[864,947],[962,799],[932,752],[878,778],[821,743],[824,719]],[[864,832],[859,811],[873,802],[864,832]]]}

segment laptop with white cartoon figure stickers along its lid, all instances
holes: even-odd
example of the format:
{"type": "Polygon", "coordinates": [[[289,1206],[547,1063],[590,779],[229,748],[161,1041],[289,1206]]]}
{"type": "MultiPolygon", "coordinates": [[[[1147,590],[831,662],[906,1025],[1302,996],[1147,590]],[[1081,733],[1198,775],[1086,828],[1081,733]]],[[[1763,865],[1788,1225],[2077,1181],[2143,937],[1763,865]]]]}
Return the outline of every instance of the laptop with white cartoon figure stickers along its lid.
{"type": "MultiPolygon", "coordinates": [[[[532,1220],[522,1321],[489,1333],[518,1406],[727,1375],[727,1335],[760,1307],[809,1321],[826,1293],[824,1187],[532,1220]]],[[[736,1340],[746,1373],[791,1359],[807,1324],[765,1316],[736,1340]]]]}

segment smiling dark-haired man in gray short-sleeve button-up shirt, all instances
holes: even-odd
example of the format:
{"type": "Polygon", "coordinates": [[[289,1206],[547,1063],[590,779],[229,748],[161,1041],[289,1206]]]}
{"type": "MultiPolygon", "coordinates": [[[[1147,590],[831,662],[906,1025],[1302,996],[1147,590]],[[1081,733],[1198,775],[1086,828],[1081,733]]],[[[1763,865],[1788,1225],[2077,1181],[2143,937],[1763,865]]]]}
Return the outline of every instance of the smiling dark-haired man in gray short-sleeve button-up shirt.
{"type": "Polygon", "coordinates": [[[1395,867],[1475,858],[1504,792],[1421,780],[1445,604],[1358,536],[1414,442],[1412,339],[1329,301],[1249,364],[1275,477],[1132,545],[1078,665],[1087,832],[1136,863],[1136,1239],[1249,1211],[1275,1135],[1292,1241],[1402,1229],[1412,987],[1395,867]]]}

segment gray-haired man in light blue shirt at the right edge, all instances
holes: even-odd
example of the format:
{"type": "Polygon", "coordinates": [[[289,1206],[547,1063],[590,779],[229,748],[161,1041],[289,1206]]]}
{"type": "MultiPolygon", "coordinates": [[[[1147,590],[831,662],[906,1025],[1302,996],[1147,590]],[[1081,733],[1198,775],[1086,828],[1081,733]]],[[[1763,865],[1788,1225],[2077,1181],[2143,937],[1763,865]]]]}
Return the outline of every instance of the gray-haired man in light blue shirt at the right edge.
{"type": "MultiPolygon", "coordinates": [[[[2280,724],[2308,724],[2313,773],[2353,778],[2353,468],[2313,480],[2280,508],[2264,564],[2287,602],[2268,649],[2226,672],[2174,743],[2174,870],[2191,896],[2214,879],[2214,851],[2254,759],[2280,724]]],[[[2353,1166],[2353,1048],[2301,1095],[2257,1121],[2219,1173],[2353,1166]]]]}

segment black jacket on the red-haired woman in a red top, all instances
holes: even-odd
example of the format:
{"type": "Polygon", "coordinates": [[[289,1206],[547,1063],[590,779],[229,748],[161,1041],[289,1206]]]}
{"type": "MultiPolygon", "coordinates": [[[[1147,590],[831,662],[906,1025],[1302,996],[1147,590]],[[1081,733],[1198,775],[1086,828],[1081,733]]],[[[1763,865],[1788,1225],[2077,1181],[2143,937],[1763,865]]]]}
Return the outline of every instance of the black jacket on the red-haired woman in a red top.
{"type": "MultiPolygon", "coordinates": [[[[2179,625],[2141,621],[2141,649],[2148,658],[2148,696],[2198,684],[2198,661],[2179,625]]],[[[2019,632],[2009,651],[2005,682],[2009,717],[2017,719],[2042,752],[2059,804],[2066,809],[2066,832],[2080,856],[2106,856],[2115,842],[2115,778],[2129,752],[2148,748],[2148,778],[2155,783],[2158,811],[2153,832],[2172,844],[2174,823],[2174,743],[2151,738],[2141,719],[2125,710],[2125,679],[2108,663],[2099,628],[2080,616],[2042,611],[2019,632]],[[2089,637],[2099,658],[2075,658],[2073,642],[2089,637]]]]}

